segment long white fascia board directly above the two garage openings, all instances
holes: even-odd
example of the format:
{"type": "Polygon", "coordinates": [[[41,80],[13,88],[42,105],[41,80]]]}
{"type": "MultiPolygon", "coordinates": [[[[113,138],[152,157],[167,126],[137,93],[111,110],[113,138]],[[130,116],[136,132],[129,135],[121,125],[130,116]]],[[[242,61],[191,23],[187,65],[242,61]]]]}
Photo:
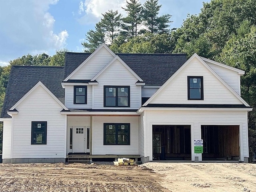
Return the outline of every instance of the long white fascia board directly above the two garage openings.
{"type": "Polygon", "coordinates": [[[252,111],[252,108],[193,108],[193,107],[141,107],[137,113],[143,111],[252,111]]]}

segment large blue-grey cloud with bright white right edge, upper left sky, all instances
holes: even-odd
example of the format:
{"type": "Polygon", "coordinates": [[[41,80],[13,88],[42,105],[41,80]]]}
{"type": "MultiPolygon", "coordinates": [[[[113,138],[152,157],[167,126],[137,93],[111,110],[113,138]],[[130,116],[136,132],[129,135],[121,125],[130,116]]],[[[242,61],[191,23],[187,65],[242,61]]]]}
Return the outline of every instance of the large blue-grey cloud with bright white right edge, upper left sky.
{"type": "Polygon", "coordinates": [[[57,3],[58,0],[1,1],[0,58],[8,61],[38,50],[63,48],[68,32],[54,31],[56,21],[48,11],[57,3]]]}

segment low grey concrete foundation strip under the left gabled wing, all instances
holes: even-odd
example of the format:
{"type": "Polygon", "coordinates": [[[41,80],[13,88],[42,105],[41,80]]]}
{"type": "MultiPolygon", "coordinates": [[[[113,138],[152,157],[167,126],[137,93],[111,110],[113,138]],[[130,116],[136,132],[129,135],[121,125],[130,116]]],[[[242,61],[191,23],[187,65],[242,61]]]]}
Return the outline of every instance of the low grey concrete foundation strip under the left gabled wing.
{"type": "Polygon", "coordinates": [[[65,158],[11,158],[3,159],[3,163],[59,163],[65,162],[65,158]]]}

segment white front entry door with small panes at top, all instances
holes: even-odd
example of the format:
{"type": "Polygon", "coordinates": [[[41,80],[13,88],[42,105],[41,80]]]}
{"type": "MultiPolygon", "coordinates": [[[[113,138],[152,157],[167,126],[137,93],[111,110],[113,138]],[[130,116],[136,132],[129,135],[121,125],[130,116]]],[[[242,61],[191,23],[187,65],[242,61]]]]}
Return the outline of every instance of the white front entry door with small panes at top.
{"type": "Polygon", "coordinates": [[[73,152],[86,152],[86,129],[83,126],[74,126],[74,149],[73,152]]]}

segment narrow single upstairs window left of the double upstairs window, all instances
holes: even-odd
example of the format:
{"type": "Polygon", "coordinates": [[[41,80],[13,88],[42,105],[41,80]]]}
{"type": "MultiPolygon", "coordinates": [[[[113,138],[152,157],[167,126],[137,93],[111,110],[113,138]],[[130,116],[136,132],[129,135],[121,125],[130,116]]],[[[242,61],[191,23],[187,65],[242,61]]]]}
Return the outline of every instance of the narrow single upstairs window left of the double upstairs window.
{"type": "Polygon", "coordinates": [[[74,104],[87,104],[87,86],[74,86],[74,104]]]}

